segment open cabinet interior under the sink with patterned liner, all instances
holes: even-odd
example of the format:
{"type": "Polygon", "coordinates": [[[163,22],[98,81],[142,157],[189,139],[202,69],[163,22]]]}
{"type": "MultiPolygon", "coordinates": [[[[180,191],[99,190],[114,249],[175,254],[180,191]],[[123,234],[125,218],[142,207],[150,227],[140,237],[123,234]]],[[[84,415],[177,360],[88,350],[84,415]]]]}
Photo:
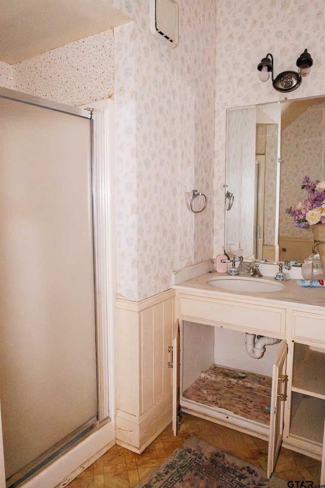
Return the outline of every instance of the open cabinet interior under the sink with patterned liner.
{"type": "Polygon", "coordinates": [[[254,359],[245,349],[245,332],[184,321],[182,345],[181,405],[189,400],[211,414],[213,409],[262,429],[269,425],[273,363],[281,343],[254,359]]]}

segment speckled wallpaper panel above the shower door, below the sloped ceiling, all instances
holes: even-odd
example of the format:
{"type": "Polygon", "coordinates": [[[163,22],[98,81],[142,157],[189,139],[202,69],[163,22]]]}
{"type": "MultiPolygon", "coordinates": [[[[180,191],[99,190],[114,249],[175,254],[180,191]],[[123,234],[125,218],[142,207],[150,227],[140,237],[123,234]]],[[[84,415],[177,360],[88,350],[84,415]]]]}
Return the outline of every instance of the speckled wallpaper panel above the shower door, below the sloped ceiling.
{"type": "Polygon", "coordinates": [[[19,92],[68,105],[108,98],[114,92],[113,30],[13,65],[19,92]]]}

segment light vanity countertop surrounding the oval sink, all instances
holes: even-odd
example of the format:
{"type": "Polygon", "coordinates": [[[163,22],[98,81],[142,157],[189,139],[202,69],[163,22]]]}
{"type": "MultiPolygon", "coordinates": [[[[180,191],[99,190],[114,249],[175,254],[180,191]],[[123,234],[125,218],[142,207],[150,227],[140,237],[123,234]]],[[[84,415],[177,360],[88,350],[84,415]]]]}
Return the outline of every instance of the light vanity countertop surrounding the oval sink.
{"type": "MultiPolygon", "coordinates": [[[[187,280],[178,285],[173,285],[172,288],[176,290],[191,291],[194,293],[204,293],[218,298],[231,298],[231,299],[243,299],[243,297],[249,297],[254,302],[265,303],[277,303],[286,306],[297,305],[303,308],[309,308],[313,310],[325,311],[325,287],[322,288],[304,288],[298,285],[297,280],[288,280],[280,282],[283,285],[283,289],[274,292],[244,292],[244,291],[232,291],[224,290],[207,282],[219,277],[228,277],[228,273],[217,273],[211,271],[205,275],[197,276],[190,280],[187,280]]],[[[246,277],[248,275],[240,275],[246,277]]],[[[234,278],[235,279],[235,278],[234,278]]],[[[268,280],[274,283],[273,277],[264,276],[263,280],[268,280]]]]}

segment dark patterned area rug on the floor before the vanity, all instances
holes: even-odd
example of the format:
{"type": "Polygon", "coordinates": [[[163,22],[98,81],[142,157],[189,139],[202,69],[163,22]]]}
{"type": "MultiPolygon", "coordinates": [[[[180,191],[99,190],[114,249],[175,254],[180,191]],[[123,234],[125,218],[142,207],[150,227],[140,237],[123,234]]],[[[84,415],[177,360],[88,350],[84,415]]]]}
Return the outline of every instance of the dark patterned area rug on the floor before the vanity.
{"type": "Polygon", "coordinates": [[[136,488],[285,488],[286,481],[192,437],[136,488]]]}

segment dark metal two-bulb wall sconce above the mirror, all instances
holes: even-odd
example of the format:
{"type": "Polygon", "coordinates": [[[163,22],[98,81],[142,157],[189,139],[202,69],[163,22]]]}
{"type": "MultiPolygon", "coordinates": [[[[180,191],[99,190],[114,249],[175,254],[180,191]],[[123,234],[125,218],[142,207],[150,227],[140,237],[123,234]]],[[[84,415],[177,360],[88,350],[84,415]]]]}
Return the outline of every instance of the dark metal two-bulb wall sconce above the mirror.
{"type": "Polygon", "coordinates": [[[302,77],[308,76],[313,60],[307,49],[297,59],[298,73],[296,71],[282,71],[275,78],[273,77],[273,56],[269,52],[266,57],[258,63],[258,78],[261,81],[267,81],[272,74],[273,87],[278,92],[292,92],[301,85],[302,77]]]}

